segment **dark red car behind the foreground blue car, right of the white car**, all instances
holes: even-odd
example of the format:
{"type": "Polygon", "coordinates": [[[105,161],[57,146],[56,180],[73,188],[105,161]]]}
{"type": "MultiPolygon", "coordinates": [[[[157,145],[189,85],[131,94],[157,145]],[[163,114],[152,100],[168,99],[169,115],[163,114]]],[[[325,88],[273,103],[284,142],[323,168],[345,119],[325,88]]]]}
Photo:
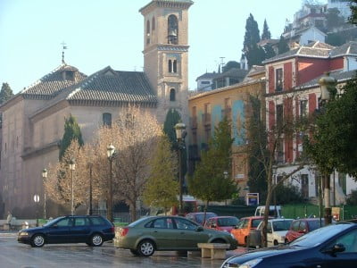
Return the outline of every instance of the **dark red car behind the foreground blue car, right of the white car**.
{"type": "Polygon", "coordinates": [[[310,232],[311,230],[319,229],[320,227],[325,225],[324,219],[320,218],[307,218],[307,219],[298,219],[291,222],[290,229],[286,232],[285,242],[291,242],[305,233],[310,232]]]}

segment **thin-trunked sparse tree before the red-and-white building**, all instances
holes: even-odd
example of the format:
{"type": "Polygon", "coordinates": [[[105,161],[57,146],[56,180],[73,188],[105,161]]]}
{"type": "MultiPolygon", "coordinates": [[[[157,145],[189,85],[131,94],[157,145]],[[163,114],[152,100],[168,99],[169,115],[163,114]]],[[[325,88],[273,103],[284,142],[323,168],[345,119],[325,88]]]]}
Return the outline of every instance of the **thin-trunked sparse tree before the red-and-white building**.
{"type": "MultiPolygon", "coordinates": [[[[273,167],[281,161],[283,156],[283,143],[287,143],[288,147],[293,150],[293,140],[300,137],[301,131],[306,125],[301,117],[295,117],[293,113],[293,102],[298,96],[292,92],[282,96],[278,96],[281,106],[274,109],[265,110],[264,105],[259,96],[251,96],[251,105],[249,114],[250,118],[246,122],[248,145],[247,155],[260,163],[262,173],[267,180],[267,197],[265,200],[264,220],[262,224],[262,246],[267,245],[267,225],[270,211],[271,198],[275,189],[283,184],[288,178],[303,169],[306,160],[303,154],[295,158],[294,168],[291,172],[282,173],[279,181],[274,181],[273,167]],[[268,126],[265,123],[265,115],[268,114],[268,126]],[[272,121],[270,121],[273,119],[272,121]]],[[[307,119],[307,118],[306,118],[307,119]]],[[[293,159],[290,159],[293,162],[293,159]]]]}

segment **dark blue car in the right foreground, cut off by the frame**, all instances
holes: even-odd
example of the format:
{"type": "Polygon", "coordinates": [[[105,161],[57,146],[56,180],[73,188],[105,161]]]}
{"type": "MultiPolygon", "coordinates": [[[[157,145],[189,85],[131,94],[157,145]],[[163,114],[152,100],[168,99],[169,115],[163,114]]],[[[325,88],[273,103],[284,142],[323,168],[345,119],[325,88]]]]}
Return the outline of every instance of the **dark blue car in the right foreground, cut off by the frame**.
{"type": "Polygon", "coordinates": [[[229,257],[220,267],[345,267],[357,264],[357,224],[341,222],[293,242],[229,257]]]}

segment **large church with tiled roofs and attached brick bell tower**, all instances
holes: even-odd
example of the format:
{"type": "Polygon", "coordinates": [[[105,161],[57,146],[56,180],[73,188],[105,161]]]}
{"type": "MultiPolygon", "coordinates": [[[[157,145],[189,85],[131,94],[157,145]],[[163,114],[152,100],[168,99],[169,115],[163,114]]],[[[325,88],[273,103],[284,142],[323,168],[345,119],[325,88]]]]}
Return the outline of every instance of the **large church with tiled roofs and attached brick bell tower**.
{"type": "Polygon", "coordinates": [[[107,66],[87,76],[62,58],[54,71],[0,106],[3,211],[33,217],[33,197],[44,197],[41,172],[58,162],[64,119],[70,114],[85,142],[129,105],[140,105],[162,124],[175,109],[187,123],[188,9],[192,4],[190,0],[152,0],[139,10],[144,16],[144,71],[116,71],[107,66]]]}

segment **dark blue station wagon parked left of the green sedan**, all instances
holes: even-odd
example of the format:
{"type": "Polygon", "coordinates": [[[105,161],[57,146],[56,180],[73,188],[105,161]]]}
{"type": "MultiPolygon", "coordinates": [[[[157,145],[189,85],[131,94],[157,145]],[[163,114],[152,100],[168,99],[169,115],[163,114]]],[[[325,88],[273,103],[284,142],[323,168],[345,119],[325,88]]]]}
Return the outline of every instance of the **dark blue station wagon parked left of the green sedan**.
{"type": "Polygon", "coordinates": [[[17,240],[31,247],[61,243],[86,243],[99,247],[114,236],[114,226],[102,216],[71,215],[58,217],[41,227],[22,229],[17,240]]]}

